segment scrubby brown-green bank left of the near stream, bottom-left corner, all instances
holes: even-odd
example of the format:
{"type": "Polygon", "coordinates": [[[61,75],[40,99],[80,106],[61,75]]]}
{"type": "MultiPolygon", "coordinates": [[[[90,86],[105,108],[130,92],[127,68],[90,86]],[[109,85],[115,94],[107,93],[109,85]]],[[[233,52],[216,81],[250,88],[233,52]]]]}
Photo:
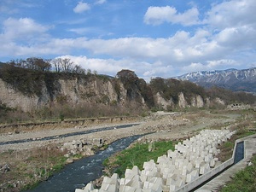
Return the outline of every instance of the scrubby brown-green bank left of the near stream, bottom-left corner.
{"type": "Polygon", "coordinates": [[[59,171],[66,158],[56,146],[15,151],[0,154],[0,165],[8,164],[9,172],[0,177],[0,191],[20,191],[30,189],[40,181],[47,179],[53,172],[59,171]]]}

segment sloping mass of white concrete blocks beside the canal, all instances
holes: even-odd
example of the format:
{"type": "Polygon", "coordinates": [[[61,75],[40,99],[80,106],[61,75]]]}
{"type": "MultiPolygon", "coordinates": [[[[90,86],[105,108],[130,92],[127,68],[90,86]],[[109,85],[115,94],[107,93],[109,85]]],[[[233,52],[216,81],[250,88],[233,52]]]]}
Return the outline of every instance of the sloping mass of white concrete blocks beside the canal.
{"type": "Polygon", "coordinates": [[[224,131],[201,131],[183,143],[177,143],[175,150],[154,160],[144,162],[143,171],[137,166],[126,169],[125,178],[115,173],[104,177],[101,189],[93,189],[88,183],[84,189],[75,192],[162,192],[175,191],[185,183],[194,181],[209,172],[219,162],[214,158],[219,153],[218,143],[225,142],[233,133],[224,131]]]}

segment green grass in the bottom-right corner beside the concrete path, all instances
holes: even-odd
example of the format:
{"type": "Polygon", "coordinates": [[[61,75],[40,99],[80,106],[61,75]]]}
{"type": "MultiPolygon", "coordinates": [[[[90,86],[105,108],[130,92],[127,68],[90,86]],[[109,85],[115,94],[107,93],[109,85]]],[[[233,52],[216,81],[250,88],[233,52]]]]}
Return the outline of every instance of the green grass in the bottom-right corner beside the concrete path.
{"type": "Polygon", "coordinates": [[[254,192],[256,191],[256,154],[253,155],[252,166],[236,173],[233,180],[221,189],[221,192],[254,192]]]}

